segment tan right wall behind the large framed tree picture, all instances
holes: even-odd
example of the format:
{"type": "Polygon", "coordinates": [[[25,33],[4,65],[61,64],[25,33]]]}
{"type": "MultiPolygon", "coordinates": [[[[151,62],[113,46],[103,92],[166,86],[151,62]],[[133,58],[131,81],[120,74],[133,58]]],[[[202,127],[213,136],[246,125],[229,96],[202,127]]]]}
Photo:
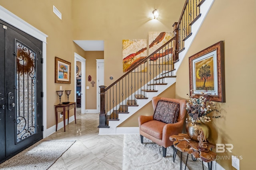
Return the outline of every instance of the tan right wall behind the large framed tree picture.
{"type": "Polygon", "coordinates": [[[226,103],[219,103],[222,117],[208,124],[212,131],[211,142],[234,145],[232,153],[218,153],[230,156],[230,159],[217,160],[227,170],[235,170],[231,166],[231,155],[242,156],[240,169],[254,167],[255,27],[255,0],[246,3],[215,0],[177,72],[176,98],[186,98],[189,92],[188,57],[224,40],[226,103]]]}

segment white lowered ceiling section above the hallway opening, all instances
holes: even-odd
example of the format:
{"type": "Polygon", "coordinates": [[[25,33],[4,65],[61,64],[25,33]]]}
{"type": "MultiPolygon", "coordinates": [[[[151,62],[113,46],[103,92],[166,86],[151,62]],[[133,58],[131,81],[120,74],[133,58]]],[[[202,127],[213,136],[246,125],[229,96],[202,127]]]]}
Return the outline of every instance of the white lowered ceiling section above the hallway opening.
{"type": "Polygon", "coordinates": [[[103,40],[73,40],[84,51],[104,51],[103,40]]]}

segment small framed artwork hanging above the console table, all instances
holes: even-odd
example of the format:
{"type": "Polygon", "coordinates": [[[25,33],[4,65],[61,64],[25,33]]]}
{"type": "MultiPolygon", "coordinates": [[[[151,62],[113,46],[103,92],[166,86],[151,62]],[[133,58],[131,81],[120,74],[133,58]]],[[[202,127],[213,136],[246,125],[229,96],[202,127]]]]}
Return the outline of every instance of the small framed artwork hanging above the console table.
{"type": "Polygon", "coordinates": [[[71,63],[55,57],[55,82],[70,83],[71,63]]]}

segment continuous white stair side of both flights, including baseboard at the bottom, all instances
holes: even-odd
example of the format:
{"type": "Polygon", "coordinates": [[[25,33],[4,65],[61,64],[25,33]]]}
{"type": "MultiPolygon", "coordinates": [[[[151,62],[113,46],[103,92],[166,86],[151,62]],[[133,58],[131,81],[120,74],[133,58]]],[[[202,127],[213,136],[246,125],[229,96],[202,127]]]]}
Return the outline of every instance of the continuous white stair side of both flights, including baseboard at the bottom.
{"type": "MultiPolygon", "coordinates": [[[[192,44],[197,32],[200,29],[200,26],[202,25],[208,11],[210,10],[214,0],[206,0],[200,7],[200,18],[191,25],[191,32],[192,35],[186,39],[184,42],[185,49],[179,53],[179,61],[174,64],[174,75],[176,75],[176,72],[180,66],[180,63],[183,61],[184,57],[186,56],[186,53],[188,52],[188,49],[190,45],[192,44]]],[[[144,107],[148,102],[152,100],[154,96],[158,96],[160,93],[164,92],[167,88],[169,88],[172,84],[176,82],[176,78],[164,78],[164,83],[167,83],[167,85],[157,85],[155,90],[158,90],[158,92],[145,92],[146,97],[148,99],[136,99],[136,102],[138,104],[137,107],[128,107],[128,114],[119,114],[118,118],[119,121],[109,121],[109,127],[110,128],[99,128],[99,135],[106,135],[106,134],[139,134],[138,127],[117,127],[122,122],[124,122],[128,117],[136,113],[139,109],[144,107]]],[[[134,97],[133,97],[134,98],[134,97]]]]}

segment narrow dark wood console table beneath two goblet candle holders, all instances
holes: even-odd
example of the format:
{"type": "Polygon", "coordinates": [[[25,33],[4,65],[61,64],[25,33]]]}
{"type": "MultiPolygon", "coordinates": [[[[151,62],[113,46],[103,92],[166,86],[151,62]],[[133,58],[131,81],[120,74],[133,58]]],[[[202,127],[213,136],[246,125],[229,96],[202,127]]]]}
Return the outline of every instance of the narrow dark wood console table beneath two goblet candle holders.
{"type": "MultiPolygon", "coordinates": [[[[68,121],[69,121],[69,110],[74,109],[75,123],[76,123],[76,102],[69,102],[68,104],[54,105],[55,106],[55,116],[56,116],[56,131],[58,127],[58,112],[62,112],[64,132],[66,132],[66,111],[68,111],[68,121]]],[[[69,122],[68,122],[69,123],[69,122]]]]}

